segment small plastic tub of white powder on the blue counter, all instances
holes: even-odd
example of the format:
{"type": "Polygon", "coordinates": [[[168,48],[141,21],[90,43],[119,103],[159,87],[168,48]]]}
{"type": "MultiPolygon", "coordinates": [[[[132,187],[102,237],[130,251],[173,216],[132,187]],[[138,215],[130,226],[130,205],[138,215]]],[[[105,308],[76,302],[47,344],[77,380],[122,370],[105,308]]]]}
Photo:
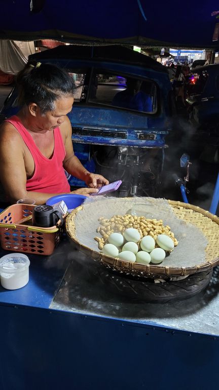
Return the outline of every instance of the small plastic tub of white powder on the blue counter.
{"type": "Polygon", "coordinates": [[[0,258],[0,281],[4,288],[16,290],[29,281],[29,258],[23,253],[10,253],[0,258]]]}

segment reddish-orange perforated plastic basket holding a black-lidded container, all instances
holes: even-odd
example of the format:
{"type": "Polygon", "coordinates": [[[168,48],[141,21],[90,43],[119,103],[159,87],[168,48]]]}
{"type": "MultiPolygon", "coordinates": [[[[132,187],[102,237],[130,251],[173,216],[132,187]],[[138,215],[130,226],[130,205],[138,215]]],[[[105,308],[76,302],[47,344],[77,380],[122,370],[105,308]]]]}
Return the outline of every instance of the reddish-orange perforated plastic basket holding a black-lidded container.
{"type": "Polygon", "coordinates": [[[51,228],[21,224],[23,218],[31,219],[34,207],[15,204],[0,213],[0,243],[3,249],[44,255],[53,252],[63,232],[61,221],[51,228]]]}

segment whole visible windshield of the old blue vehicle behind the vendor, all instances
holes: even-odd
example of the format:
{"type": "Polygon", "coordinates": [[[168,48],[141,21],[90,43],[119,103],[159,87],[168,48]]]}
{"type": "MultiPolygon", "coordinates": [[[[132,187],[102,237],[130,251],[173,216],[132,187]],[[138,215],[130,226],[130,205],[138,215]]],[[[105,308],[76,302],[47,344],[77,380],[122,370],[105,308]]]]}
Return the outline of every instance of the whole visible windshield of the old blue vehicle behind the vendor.
{"type": "Polygon", "coordinates": [[[87,102],[150,114],[157,111],[157,87],[152,80],[103,73],[102,70],[67,71],[75,81],[75,103],[87,102]]]}

